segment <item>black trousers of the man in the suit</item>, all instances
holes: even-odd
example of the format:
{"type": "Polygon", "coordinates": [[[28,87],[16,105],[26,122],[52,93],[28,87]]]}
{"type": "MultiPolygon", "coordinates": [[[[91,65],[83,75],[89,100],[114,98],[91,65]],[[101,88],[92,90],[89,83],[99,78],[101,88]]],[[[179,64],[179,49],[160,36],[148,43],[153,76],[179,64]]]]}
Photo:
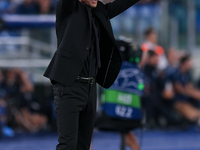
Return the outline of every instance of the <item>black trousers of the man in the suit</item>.
{"type": "Polygon", "coordinates": [[[57,115],[56,150],[89,150],[96,115],[96,84],[53,85],[57,115]]]}

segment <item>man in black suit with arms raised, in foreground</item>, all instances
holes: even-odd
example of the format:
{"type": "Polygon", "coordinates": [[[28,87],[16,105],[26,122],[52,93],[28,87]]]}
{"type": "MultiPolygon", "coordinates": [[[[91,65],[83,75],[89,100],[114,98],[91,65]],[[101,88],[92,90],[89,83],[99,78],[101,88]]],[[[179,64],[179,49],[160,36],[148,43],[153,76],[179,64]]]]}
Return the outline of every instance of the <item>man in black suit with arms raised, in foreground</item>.
{"type": "Polygon", "coordinates": [[[138,1],[58,0],[58,48],[44,74],[54,88],[57,150],[89,150],[96,83],[109,88],[121,68],[110,19],[138,1]]]}

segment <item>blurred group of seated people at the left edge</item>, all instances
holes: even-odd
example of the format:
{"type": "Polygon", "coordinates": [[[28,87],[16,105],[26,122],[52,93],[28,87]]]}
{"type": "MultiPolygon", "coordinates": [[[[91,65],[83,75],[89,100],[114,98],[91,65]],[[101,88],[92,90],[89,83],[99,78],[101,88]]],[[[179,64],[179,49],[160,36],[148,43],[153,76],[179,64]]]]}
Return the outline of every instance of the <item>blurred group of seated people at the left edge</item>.
{"type": "Polygon", "coordinates": [[[51,107],[40,105],[26,72],[15,68],[0,70],[0,135],[44,130],[49,113],[51,107]]]}

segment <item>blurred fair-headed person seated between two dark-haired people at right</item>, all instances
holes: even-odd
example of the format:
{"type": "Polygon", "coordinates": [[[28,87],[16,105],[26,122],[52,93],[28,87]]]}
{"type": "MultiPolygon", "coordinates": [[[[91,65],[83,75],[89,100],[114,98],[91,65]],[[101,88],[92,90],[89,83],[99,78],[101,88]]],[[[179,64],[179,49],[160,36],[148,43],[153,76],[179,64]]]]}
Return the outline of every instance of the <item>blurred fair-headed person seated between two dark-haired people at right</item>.
{"type": "MultiPolygon", "coordinates": [[[[161,114],[159,118],[159,124],[163,127],[166,126],[182,126],[184,124],[183,118],[176,113],[174,109],[174,97],[175,91],[173,87],[173,76],[176,73],[176,70],[179,65],[179,59],[182,53],[177,51],[174,48],[169,49],[167,52],[167,67],[159,73],[158,82],[157,82],[157,92],[159,93],[161,105],[168,110],[168,115],[166,111],[164,114],[161,114]]],[[[162,112],[162,111],[161,111],[162,112]]]]}

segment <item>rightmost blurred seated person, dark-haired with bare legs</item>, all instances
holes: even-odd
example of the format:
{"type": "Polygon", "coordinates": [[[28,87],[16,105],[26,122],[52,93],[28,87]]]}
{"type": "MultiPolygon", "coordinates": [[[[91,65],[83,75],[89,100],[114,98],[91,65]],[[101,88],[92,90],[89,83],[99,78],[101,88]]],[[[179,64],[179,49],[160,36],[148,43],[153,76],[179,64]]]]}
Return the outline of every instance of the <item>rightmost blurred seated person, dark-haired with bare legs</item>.
{"type": "Polygon", "coordinates": [[[186,119],[200,124],[200,90],[196,89],[192,84],[191,68],[190,55],[181,57],[180,65],[173,76],[175,89],[174,106],[186,119]]]}

